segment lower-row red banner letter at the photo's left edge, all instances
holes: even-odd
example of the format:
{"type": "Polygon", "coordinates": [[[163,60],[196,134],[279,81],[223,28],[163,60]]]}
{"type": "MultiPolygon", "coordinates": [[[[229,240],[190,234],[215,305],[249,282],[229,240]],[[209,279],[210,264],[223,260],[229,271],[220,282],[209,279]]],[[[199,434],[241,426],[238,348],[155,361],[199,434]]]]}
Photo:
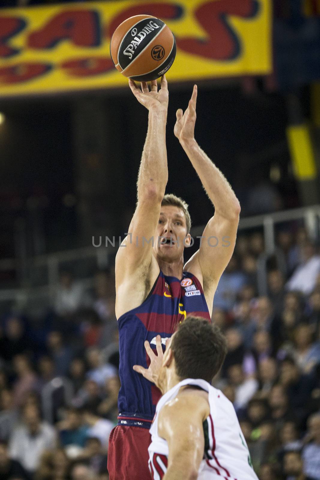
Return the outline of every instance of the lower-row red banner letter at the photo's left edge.
{"type": "Polygon", "coordinates": [[[0,68],[0,82],[4,85],[21,84],[41,77],[51,70],[46,63],[17,63],[10,67],[0,68]]]}

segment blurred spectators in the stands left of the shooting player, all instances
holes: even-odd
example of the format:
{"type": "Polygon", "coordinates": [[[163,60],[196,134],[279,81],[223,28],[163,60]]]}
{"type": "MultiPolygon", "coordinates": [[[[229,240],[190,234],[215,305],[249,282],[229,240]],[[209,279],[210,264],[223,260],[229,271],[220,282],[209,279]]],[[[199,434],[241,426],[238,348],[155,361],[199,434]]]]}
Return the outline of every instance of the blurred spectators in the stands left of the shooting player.
{"type": "Polygon", "coordinates": [[[114,274],[94,292],[60,273],[45,318],[0,328],[0,480],[107,480],[117,424],[119,337],[114,274]]]}

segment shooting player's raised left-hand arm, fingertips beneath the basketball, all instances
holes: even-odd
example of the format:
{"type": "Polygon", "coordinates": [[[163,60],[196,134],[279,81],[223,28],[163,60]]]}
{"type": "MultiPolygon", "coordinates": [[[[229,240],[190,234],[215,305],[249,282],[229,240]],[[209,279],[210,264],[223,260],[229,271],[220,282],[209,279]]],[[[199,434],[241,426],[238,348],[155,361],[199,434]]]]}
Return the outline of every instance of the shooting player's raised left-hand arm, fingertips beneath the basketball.
{"type": "MultiPolygon", "coordinates": [[[[127,298],[128,289],[132,291],[132,286],[139,288],[139,282],[148,275],[147,270],[153,258],[152,239],[157,241],[154,236],[168,180],[166,157],[168,88],[166,77],[162,77],[159,91],[156,80],[151,82],[151,91],[146,82],[141,84],[141,89],[132,80],[129,81],[129,85],[133,95],[149,110],[149,120],[137,182],[138,202],[128,236],[122,242],[116,257],[116,288],[117,293],[120,292],[118,298],[122,305],[123,297],[127,298]],[[124,287],[121,288],[121,291],[120,286],[124,287]]],[[[156,262],[154,263],[157,267],[156,262]]],[[[138,297],[137,302],[143,301],[138,297]]],[[[130,304],[130,308],[134,308],[134,306],[130,304]]]]}

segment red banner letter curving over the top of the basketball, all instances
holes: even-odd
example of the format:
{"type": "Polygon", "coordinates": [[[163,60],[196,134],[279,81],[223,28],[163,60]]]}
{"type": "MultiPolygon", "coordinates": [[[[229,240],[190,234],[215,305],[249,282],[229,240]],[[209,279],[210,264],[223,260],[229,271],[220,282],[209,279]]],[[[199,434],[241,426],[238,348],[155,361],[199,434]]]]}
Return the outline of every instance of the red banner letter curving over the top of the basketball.
{"type": "Polygon", "coordinates": [[[183,13],[181,5],[174,3],[158,2],[158,3],[140,3],[122,10],[111,22],[109,27],[109,36],[111,37],[116,28],[129,17],[133,15],[154,15],[162,20],[178,19],[183,13]]]}

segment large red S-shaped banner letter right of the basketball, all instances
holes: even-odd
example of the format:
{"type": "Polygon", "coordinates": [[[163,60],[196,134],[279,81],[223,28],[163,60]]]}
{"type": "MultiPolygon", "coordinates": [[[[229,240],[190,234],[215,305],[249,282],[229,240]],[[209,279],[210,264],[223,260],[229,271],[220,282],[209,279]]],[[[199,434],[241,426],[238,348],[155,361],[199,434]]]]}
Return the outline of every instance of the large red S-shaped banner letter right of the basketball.
{"type": "Polygon", "coordinates": [[[177,45],[188,53],[213,60],[232,60],[239,56],[241,40],[228,15],[252,18],[259,11],[257,0],[214,0],[202,4],[194,13],[207,38],[177,38],[177,45]]]}

